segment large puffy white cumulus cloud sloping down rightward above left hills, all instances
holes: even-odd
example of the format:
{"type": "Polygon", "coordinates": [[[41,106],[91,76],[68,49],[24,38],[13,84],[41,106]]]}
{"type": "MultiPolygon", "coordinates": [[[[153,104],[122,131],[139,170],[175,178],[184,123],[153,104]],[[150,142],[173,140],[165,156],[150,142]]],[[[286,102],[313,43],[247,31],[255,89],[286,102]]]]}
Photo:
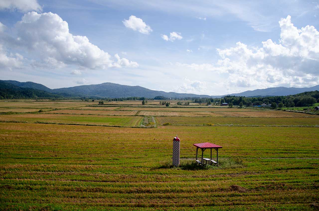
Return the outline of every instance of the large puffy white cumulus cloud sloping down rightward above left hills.
{"type": "Polygon", "coordinates": [[[48,64],[56,68],[76,65],[81,68],[107,69],[111,67],[137,67],[136,62],[114,62],[112,56],[96,45],[86,36],[77,36],[69,32],[69,25],[57,14],[48,12],[38,14],[28,12],[15,25],[17,31],[16,45],[33,51],[41,61],[36,66],[48,64]]]}

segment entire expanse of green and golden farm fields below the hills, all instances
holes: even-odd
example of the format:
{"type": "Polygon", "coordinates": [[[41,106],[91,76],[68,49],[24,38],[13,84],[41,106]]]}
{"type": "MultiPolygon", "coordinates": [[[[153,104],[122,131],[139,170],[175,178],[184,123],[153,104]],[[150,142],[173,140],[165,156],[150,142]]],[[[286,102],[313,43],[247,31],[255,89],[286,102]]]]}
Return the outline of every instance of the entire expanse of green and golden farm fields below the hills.
{"type": "Polygon", "coordinates": [[[0,210],[316,210],[319,116],[131,102],[0,101],[0,210]]]}

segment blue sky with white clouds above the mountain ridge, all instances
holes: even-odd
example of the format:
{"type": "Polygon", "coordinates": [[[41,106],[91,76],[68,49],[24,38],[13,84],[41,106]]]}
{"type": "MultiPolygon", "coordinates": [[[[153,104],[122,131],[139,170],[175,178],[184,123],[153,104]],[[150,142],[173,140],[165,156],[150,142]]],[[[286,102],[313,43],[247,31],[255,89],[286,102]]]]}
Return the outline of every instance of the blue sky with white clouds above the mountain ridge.
{"type": "Polygon", "coordinates": [[[3,80],[222,95],[319,84],[317,1],[0,2],[3,80]]]}

